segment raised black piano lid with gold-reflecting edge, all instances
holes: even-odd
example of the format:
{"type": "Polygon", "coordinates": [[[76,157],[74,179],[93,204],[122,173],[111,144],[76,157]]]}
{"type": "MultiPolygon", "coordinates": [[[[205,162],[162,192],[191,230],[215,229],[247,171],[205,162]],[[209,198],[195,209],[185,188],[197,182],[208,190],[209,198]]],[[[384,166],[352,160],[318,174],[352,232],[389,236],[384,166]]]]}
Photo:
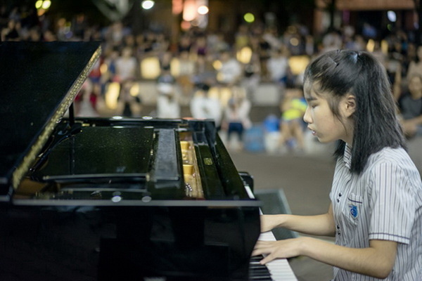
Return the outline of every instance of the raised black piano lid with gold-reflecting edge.
{"type": "Polygon", "coordinates": [[[0,201],[18,186],[100,53],[99,42],[0,43],[0,201]]]}

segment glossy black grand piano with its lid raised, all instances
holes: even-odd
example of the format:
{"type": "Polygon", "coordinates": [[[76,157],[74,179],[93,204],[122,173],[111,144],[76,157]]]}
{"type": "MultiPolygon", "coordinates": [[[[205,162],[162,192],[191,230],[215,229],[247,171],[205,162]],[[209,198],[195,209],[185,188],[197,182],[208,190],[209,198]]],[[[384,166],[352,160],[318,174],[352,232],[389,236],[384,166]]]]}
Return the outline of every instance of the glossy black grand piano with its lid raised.
{"type": "Polygon", "coordinates": [[[260,202],[211,120],[75,118],[100,53],[0,43],[0,280],[276,280],[252,276],[260,202]]]}

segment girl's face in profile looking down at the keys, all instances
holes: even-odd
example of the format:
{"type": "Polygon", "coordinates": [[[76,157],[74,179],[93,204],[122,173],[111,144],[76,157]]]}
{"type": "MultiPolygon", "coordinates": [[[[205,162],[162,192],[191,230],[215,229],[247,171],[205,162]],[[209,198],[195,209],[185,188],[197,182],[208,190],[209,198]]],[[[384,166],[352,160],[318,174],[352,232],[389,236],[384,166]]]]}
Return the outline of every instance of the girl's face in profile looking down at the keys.
{"type": "Polygon", "coordinates": [[[316,94],[317,83],[311,84],[305,81],[304,94],[307,100],[307,110],[303,120],[308,124],[308,129],[312,135],[316,136],[321,143],[331,143],[342,140],[352,145],[353,130],[347,117],[348,112],[345,107],[345,98],[339,103],[340,119],[333,114],[327,98],[331,97],[329,93],[316,94]],[[346,110],[346,112],[345,112],[346,110]]]}

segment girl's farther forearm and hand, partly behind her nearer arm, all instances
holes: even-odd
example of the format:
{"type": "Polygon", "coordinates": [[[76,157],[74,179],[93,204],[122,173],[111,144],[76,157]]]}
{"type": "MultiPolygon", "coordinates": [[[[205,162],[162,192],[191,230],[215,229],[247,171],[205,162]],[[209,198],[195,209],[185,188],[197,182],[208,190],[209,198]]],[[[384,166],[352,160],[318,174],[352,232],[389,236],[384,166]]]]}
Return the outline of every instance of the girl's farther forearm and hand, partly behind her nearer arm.
{"type": "Polygon", "coordinates": [[[333,207],[328,208],[326,214],[317,216],[295,216],[295,215],[262,215],[261,231],[266,232],[274,228],[288,228],[299,233],[308,235],[335,235],[335,223],[333,207]]]}

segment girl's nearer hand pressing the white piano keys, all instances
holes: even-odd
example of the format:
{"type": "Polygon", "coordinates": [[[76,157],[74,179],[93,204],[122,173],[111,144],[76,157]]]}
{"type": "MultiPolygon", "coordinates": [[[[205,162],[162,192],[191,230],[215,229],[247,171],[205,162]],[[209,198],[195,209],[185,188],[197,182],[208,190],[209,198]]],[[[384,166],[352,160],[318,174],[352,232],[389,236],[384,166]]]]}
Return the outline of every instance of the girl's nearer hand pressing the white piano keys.
{"type": "Polygon", "coordinates": [[[274,259],[287,259],[293,256],[300,256],[305,240],[305,237],[299,237],[278,241],[258,241],[255,244],[255,249],[252,251],[252,256],[268,254],[260,261],[261,264],[268,263],[274,259]]]}

